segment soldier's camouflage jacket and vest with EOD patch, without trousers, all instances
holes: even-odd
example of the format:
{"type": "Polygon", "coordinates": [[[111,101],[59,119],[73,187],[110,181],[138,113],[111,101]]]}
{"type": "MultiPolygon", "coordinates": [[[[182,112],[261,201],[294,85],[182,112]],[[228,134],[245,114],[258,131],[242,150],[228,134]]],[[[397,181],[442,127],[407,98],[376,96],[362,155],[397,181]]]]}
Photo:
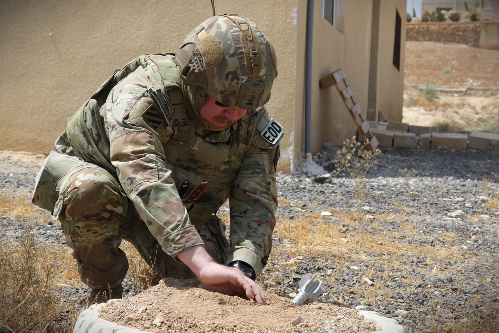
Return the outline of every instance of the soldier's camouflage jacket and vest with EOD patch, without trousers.
{"type": "Polygon", "coordinates": [[[229,199],[228,263],[243,260],[258,275],[275,225],[282,127],[261,107],[223,131],[207,130],[187,109],[180,87],[173,55],[134,59],[68,120],[56,150],[113,174],[173,257],[202,244],[196,228],[229,199]],[[179,191],[187,179],[186,191],[179,191]]]}

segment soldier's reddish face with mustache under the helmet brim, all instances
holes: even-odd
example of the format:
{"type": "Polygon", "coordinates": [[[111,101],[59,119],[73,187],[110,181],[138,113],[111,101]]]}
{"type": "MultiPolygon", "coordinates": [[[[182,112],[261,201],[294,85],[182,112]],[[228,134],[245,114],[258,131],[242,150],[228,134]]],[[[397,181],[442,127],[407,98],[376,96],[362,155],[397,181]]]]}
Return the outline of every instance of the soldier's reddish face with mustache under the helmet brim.
{"type": "Polygon", "coordinates": [[[247,110],[234,110],[224,104],[217,102],[215,99],[208,96],[205,97],[205,102],[199,109],[199,114],[209,123],[218,126],[226,127],[243,118],[247,110]]]}

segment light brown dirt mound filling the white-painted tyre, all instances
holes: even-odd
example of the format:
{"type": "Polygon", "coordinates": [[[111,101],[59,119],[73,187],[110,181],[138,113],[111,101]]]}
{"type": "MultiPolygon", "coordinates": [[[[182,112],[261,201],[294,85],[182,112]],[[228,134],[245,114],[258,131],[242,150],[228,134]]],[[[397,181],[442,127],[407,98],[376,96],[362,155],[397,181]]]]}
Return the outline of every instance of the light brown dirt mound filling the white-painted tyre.
{"type": "Polygon", "coordinates": [[[267,294],[266,306],[259,306],[239,297],[197,288],[198,284],[197,280],[163,279],[158,286],[133,299],[107,303],[99,310],[99,317],[129,328],[170,333],[376,330],[375,324],[345,306],[313,302],[297,307],[290,299],[272,294],[267,294]]]}

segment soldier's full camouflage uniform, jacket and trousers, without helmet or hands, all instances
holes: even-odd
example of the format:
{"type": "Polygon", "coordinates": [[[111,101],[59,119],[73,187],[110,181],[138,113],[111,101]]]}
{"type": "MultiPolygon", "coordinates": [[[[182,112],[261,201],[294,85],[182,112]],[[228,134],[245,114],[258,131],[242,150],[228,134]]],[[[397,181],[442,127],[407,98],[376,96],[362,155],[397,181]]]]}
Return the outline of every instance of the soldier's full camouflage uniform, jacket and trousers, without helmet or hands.
{"type": "Polygon", "coordinates": [[[117,70],[68,120],[36,179],[33,203],[61,222],[80,279],[110,298],[121,297],[128,270],[122,239],[160,277],[193,277],[175,257],[200,244],[256,276],[271,250],[282,127],[262,106],[210,130],[173,57],[143,55],[117,70]],[[227,199],[230,242],[215,215],[227,199]]]}

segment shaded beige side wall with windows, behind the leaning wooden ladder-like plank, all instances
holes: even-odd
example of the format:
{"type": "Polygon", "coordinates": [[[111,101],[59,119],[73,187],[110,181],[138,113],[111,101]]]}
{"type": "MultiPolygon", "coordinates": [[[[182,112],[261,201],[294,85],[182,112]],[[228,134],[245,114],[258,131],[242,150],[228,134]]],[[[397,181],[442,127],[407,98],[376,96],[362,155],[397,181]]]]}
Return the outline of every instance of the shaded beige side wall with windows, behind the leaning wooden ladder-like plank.
{"type": "MultiPolygon", "coordinates": [[[[376,1],[376,0],[375,0],[376,1]]],[[[379,1],[379,0],[378,0],[379,1]]],[[[376,43],[375,61],[376,89],[373,97],[375,108],[394,120],[402,119],[404,87],[404,37],[406,0],[380,1],[379,36],[376,43]],[[402,18],[401,68],[393,66],[395,37],[395,10],[402,18]]],[[[333,27],[321,17],[320,0],[314,2],[314,32],[312,59],[312,154],[323,148],[323,144],[341,145],[356,133],[341,97],[334,86],[320,89],[321,77],[343,68],[354,98],[359,103],[366,118],[370,89],[371,29],[373,20],[373,0],[338,0],[338,12],[343,16],[343,25],[333,27]],[[316,84],[317,83],[317,84],[316,84]]],[[[298,73],[300,70],[298,70],[298,73]]]]}

